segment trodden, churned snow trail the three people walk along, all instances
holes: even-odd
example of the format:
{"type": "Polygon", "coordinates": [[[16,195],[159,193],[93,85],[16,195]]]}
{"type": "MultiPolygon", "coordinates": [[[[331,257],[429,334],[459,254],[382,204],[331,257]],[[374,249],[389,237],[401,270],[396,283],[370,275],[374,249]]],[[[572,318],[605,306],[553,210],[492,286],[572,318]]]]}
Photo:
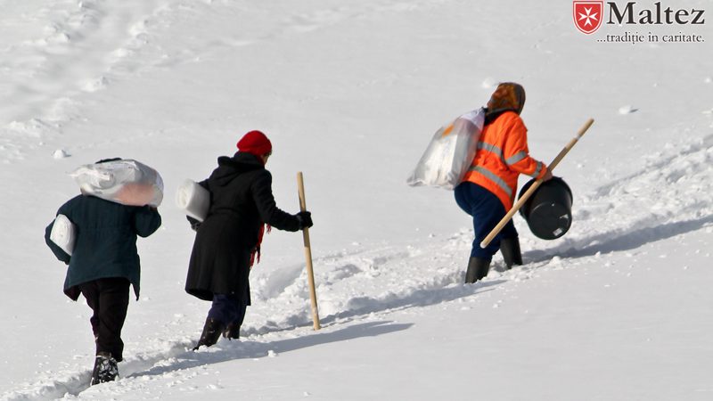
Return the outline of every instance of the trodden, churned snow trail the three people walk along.
{"type": "MultiPolygon", "coordinates": [[[[324,329],[312,334],[304,266],[283,268],[270,278],[258,276],[253,279],[254,306],[249,308],[243,326],[243,340],[221,340],[199,352],[189,350],[193,341],[184,333],[157,341],[152,347],[158,350],[130,356],[120,364],[122,384],[106,385],[102,393],[139,390],[157,377],[183,384],[200,375],[201,367],[207,364],[269,357],[275,352],[344,340],[352,335],[345,332],[373,335],[369,332],[405,330],[404,325],[389,323],[389,315],[477,299],[483,292],[509,282],[531,280],[561,268],[577,268],[591,258],[606,263],[604,255],[636,252],[646,243],[704,228],[713,231],[711,186],[713,135],[671,143],[652,155],[635,175],[577,197],[572,229],[561,240],[553,241],[553,247],[535,250],[538,240],[523,233],[526,227],[520,227],[525,265],[504,271],[496,260],[488,277],[473,285],[462,284],[464,259],[472,241],[468,230],[405,247],[342,251],[316,258],[317,296],[324,329]],[[626,218],[602,221],[596,218],[602,213],[626,218]],[[369,322],[373,320],[377,323],[369,322]]],[[[193,334],[188,332],[189,336],[193,334]]],[[[88,388],[89,375],[86,366],[75,363],[60,372],[44,372],[39,381],[20,386],[2,399],[76,397],[88,388]]]]}

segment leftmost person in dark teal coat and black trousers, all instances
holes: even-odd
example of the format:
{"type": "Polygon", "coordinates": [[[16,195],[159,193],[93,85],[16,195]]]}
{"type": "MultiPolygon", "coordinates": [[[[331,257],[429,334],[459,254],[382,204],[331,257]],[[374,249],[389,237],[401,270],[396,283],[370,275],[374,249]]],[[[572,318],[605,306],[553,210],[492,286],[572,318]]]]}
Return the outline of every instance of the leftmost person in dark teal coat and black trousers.
{"type": "MultiPolygon", "coordinates": [[[[101,169],[121,159],[99,160],[101,169]]],[[[127,205],[87,192],[64,203],[45,229],[45,242],[68,265],[64,293],[76,301],[83,295],[94,314],[96,357],[91,384],[114,381],[123,360],[121,329],[127,317],[129,285],[139,298],[141,266],[137,236],[148,237],[161,225],[157,205],[127,205]],[[58,233],[61,231],[61,233],[58,233]],[[70,241],[59,241],[66,239],[70,241]],[[57,242],[60,242],[59,244],[57,242]]]]}

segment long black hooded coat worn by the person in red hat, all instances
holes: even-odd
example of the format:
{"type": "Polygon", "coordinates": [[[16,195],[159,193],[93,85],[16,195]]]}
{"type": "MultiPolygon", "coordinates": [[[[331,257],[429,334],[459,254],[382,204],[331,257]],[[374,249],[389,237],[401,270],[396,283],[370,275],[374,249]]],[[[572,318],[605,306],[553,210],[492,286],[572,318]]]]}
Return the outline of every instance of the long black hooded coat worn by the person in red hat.
{"type": "Polygon", "coordinates": [[[250,255],[263,224],[299,230],[298,218],[275,205],[272,176],[262,160],[237,152],[217,163],[200,183],[210,192],[210,209],[196,233],[185,283],[186,292],[205,300],[213,294],[248,294],[250,255]]]}

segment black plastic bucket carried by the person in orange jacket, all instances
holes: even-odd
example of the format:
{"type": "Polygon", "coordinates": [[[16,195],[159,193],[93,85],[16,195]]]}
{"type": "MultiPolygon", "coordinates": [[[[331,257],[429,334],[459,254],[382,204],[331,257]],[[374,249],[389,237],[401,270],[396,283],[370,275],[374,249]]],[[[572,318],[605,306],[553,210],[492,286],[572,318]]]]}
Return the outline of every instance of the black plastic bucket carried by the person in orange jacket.
{"type": "MultiPolygon", "coordinates": [[[[530,180],[520,190],[520,195],[528,191],[535,183],[530,180]]],[[[520,208],[520,215],[525,217],[529,229],[538,238],[554,240],[570,230],[572,225],[572,191],[558,176],[540,184],[528,201],[520,208]]]]}

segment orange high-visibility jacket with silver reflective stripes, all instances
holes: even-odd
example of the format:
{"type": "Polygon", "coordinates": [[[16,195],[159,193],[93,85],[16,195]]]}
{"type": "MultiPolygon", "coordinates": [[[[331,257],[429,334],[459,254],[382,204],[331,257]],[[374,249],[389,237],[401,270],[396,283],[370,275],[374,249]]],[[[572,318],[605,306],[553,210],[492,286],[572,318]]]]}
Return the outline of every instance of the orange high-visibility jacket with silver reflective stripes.
{"type": "Polygon", "coordinates": [[[496,194],[505,210],[512,208],[518,176],[542,178],[545,163],[532,159],[528,150],[528,128],[514,111],[505,111],[483,128],[471,168],[463,181],[479,184],[496,194]]]}

